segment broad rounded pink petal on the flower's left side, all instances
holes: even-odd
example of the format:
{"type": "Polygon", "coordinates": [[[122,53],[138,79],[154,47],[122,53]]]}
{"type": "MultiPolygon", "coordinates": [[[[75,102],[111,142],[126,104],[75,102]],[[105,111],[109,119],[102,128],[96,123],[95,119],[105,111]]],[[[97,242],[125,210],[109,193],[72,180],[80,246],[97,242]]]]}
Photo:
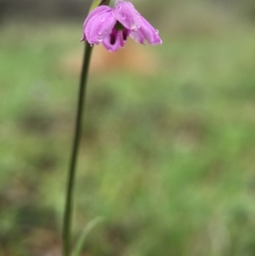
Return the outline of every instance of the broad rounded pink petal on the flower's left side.
{"type": "Polygon", "coordinates": [[[111,34],[115,25],[116,19],[112,16],[111,11],[109,10],[94,15],[88,20],[84,30],[88,43],[101,43],[105,37],[108,37],[111,34]]]}

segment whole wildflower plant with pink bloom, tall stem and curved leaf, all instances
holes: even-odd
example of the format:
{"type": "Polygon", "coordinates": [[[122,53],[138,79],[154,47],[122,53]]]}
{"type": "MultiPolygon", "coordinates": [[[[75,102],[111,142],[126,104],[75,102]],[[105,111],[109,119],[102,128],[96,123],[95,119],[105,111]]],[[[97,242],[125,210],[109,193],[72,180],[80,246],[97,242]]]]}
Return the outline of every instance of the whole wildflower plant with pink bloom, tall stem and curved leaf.
{"type": "Polygon", "coordinates": [[[115,52],[125,46],[128,37],[133,38],[134,41],[141,44],[144,44],[145,41],[151,45],[162,43],[158,31],[139,14],[133,7],[133,3],[116,0],[113,8],[109,4],[110,0],[94,0],[90,8],[90,13],[83,24],[81,42],[85,42],[85,50],[78,92],[76,127],[67,177],[63,223],[63,256],[81,255],[82,244],[88,235],[88,231],[101,220],[94,219],[87,225],[71,252],[71,219],[77,156],[82,135],[82,112],[85,104],[88,69],[93,46],[102,43],[107,50],[115,52]]]}

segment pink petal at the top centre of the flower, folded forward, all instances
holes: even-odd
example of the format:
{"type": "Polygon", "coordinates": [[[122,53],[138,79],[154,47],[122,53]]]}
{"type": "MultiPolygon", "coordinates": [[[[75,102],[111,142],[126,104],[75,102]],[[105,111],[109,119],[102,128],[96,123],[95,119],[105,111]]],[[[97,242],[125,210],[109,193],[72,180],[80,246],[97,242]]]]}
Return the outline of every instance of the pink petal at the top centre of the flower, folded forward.
{"type": "Polygon", "coordinates": [[[142,25],[139,12],[130,2],[116,2],[116,6],[111,9],[111,13],[116,18],[116,20],[122,24],[122,26],[125,26],[131,31],[137,31],[142,25]]]}

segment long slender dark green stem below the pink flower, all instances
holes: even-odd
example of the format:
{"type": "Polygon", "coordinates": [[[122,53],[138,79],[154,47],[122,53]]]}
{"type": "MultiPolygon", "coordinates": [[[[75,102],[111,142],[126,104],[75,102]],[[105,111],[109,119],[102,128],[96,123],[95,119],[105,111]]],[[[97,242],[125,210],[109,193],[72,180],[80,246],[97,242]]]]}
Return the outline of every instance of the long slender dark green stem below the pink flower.
{"type": "Polygon", "coordinates": [[[73,139],[71,161],[67,179],[67,190],[65,197],[65,215],[63,223],[63,255],[71,255],[71,220],[73,211],[73,194],[75,187],[77,156],[82,135],[82,113],[86,98],[86,85],[88,80],[89,60],[92,53],[92,47],[86,42],[83,56],[82,73],[80,78],[80,88],[77,102],[76,128],[73,139]]]}

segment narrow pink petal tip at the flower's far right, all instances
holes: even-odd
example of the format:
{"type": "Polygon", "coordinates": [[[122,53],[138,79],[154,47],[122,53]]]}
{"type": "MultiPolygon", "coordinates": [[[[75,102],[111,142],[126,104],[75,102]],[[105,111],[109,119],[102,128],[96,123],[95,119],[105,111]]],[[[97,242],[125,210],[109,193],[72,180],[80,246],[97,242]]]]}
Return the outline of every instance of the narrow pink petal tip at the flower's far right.
{"type": "Polygon", "coordinates": [[[158,35],[158,31],[156,31],[156,29],[143,17],[141,17],[141,20],[142,26],[139,28],[139,31],[144,35],[148,43],[152,45],[162,43],[161,37],[158,35]]]}

